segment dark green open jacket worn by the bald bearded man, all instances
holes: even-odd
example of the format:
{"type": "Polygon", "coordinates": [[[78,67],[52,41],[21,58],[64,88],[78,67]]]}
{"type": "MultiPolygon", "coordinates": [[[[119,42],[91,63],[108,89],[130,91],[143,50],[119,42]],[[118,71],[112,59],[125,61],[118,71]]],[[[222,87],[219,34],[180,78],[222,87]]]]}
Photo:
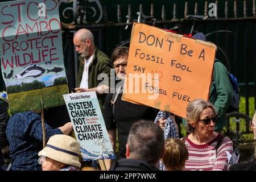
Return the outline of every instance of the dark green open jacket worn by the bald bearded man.
{"type": "MultiPolygon", "coordinates": [[[[88,73],[88,88],[94,88],[100,84],[103,80],[97,80],[100,73],[105,73],[110,78],[110,69],[112,68],[112,63],[109,57],[98,48],[95,49],[93,55],[93,61],[89,65],[88,73]]],[[[77,86],[80,86],[82,80],[82,73],[84,72],[84,58],[79,56],[79,72],[77,74],[77,86]]],[[[106,94],[100,94],[97,96],[98,102],[100,104],[101,110],[103,110],[104,100],[106,94]]]]}

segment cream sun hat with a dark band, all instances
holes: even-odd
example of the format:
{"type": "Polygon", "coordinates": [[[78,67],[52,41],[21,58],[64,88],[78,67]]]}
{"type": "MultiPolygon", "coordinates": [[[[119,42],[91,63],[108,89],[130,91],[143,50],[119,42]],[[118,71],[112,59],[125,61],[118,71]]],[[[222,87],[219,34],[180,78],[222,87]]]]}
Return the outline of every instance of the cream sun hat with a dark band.
{"type": "Polygon", "coordinates": [[[68,135],[53,135],[38,155],[80,168],[79,151],[80,144],[74,138],[68,135]]]}

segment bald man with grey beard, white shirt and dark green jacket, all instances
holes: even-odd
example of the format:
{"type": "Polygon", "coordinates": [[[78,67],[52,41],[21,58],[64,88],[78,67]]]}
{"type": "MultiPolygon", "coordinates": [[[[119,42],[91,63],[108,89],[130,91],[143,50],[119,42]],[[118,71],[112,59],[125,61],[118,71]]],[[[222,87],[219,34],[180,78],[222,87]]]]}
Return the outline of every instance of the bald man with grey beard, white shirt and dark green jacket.
{"type": "Polygon", "coordinates": [[[88,29],[82,28],[77,31],[73,43],[76,46],[76,52],[80,54],[78,58],[78,88],[75,88],[75,91],[95,91],[98,94],[97,97],[102,110],[106,96],[105,92],[102,93],[102,90],[108,90],[109,85],[106,84],[102,88],[102,86],[99,86],[101,80],[97,80],[97,77],[100,73],[106,73],[110,78],[112,63],[109,57],[94,45],[93,34],[88,29]]]}

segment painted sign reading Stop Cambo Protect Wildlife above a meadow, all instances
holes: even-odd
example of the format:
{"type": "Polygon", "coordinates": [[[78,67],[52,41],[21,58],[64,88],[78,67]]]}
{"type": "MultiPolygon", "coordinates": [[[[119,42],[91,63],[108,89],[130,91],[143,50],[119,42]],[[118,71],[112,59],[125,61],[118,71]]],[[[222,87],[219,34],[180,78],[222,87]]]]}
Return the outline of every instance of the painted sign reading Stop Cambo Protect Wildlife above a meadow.
{"type": "Polygon", "coordinates": [[[57,0],[0,3],[1,71],[11,113],[64,105],[68,93],[57,0]]]}

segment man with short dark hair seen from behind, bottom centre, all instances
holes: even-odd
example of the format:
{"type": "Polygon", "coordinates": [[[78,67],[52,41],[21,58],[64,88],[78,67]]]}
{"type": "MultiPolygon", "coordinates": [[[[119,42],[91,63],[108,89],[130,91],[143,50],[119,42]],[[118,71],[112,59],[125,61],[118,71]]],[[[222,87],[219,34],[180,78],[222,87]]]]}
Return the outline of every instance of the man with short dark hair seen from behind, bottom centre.
{"type": "Polygon", "coordinates": [[[158,170],[164,152],[163,131],[151,121],[141,120],[131,126],[126,144],[126,158],[118,160],[110,171],[158,170]]]}

